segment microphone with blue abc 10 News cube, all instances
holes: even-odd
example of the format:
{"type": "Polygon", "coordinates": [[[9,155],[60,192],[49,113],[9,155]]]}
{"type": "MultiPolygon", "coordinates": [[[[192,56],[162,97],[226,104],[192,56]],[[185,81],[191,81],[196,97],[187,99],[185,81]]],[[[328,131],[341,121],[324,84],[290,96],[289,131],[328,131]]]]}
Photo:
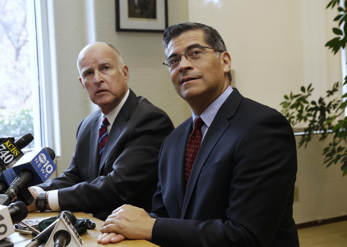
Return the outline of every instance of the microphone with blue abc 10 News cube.
{"type": "Polygon", "coordinates": [[[10,184],[7,191],[0,195],[0,204],[9,205],[14,197],[30,205],[34,201],[28,187],[46,181],[57,169],[53,162],[54,151],[45,147],[39,151],[28,152],[12,167],[17,178],[10,184]]]}

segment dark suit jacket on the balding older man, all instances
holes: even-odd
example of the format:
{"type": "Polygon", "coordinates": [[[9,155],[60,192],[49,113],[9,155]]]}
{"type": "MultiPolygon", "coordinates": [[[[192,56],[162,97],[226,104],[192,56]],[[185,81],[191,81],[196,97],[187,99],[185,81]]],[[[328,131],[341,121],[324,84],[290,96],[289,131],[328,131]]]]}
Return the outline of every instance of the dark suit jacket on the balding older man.
{"type": "Polygon", "coordinates": [[[174,129],[170,118],[130,90],[113,122],[99,165],[101,114],[97,110],[79,124],[70,167],[38,186],[59,189],[61,210],[90,212],[101,220],[123,204],[150,210],[158,183],[160,146],[174,129]]]}

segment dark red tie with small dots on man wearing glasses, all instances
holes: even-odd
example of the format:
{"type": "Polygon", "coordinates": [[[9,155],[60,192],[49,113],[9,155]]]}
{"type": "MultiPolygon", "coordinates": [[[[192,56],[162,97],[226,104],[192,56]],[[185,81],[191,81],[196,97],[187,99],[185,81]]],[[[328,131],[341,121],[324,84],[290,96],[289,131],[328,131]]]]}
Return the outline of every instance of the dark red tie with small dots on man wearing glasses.
{"type": "Polygon", "coordinates": [[[186,147],[186,168],[184,173],[184,188],[185,189],[187,188],[188,179],[189,179],[189,176],[191,175],[191,171],[193,168],[193,163],[202,141],[201,126],[203,124],[204,124],[204,121],[202,121],[201,117],[197,117],[194,121],[194,129],[188,138],[187,147],[186,147]]]}

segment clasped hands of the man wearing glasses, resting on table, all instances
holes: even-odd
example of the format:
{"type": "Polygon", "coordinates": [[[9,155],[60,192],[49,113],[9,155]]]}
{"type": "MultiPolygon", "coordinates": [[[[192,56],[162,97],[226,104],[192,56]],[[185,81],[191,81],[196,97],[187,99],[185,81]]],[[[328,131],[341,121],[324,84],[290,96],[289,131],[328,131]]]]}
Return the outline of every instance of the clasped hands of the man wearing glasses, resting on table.
{"type": "Polygon", "coordinates": [[[108,244],[120,242],[125,238],[152,240],[154,222],[155,219],[142,208],[123,205],[107,217],[100,228],[100,232],[104,234],[100,235],[97,241],[108,244]]]}

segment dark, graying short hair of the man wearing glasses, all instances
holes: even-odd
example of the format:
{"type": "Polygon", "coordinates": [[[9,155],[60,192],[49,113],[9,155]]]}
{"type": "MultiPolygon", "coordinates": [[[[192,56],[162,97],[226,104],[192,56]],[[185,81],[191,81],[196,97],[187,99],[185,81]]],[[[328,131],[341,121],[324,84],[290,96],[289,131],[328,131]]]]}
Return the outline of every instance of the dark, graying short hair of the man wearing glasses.
{"type": "MultiPolygon", "coordinates": [[[[164,31],[163,35],[163,46],[166,49],[168,48],[168,44],[171,39],[179,36],[180,34],[190,31],[190,30],[202,30],[204,31],[204,39],[205,42],[208,43],[212,48],[220,51],[226,51],[227,47],[225,46],[225,43],[220,36],[220,34],[217,32],[216,29],[213,27],[201,24],[201,23],[195,23],[195,22],[182,22],[179,24],[171,25],[164,31]]],[[[220,52],[214,51],[217,58],[219,58],[220,52]]],[[[231,72],[228,72],[228,78],[231,82],[231,72]]]]}

